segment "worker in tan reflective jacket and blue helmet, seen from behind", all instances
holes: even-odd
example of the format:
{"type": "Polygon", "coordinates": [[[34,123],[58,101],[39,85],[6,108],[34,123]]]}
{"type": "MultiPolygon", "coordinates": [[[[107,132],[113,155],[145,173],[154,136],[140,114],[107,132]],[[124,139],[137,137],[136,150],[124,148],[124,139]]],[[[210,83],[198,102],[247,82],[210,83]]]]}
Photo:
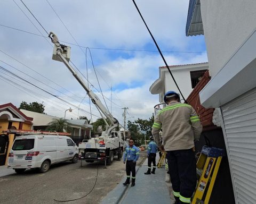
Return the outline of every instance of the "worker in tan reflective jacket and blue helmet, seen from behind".
{"type": "Polygon", "coordinates": [[[202,124],[193,107],[180,103],[174,91],[166,92],[167,106],[155,117],[152,134],[161,151],[166,151],[175,204],[190,203],[196,188],[194,141],[202,132],[202,124]],[[163,131],[163,145],[159,131],[163,131]]]}

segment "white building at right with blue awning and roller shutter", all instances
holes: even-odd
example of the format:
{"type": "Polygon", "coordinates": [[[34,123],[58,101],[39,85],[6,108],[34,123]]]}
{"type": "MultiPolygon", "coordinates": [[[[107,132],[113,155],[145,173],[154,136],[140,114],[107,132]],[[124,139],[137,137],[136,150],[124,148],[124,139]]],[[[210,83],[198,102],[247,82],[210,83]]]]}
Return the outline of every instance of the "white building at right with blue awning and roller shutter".
{"type": "Polygon", "coordinates": [[[211,80],[199,92],[215,108],[236,203],[256,203],[256,2],[190,0],[186,35],[204,35],[211,80]]]}

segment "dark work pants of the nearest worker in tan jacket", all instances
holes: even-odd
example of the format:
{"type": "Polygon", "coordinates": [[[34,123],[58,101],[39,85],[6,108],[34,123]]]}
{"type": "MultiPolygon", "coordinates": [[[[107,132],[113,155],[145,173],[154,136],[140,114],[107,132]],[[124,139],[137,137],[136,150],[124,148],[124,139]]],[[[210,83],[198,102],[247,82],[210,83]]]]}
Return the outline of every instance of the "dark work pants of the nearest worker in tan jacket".
{"type": "Polygon", "coordinates": [[[173,191],[191,198],[196,188],[196,158],[192,149],[167,151],[173,191]]]}

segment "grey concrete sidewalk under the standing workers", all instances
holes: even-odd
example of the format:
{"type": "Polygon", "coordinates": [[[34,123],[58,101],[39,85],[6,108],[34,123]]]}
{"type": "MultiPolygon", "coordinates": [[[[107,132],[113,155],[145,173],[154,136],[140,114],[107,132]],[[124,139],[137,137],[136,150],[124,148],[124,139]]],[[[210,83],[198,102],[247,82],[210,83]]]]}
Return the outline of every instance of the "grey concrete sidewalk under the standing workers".
{"type": "MultiPolygon", "coordinates": [[[[159,156],[157,154],[156,162],[159,156]]],[[[165,184],[165,168],[156,168],[156,174],[145,175],[147,171],[148,160],[141,167],[137,167],[135,186],[124,186],[126,180],[123,180],[116,186],[114,190],[103,198],[101,204],[131,204],[131,203],[147,203],[147,204],[170,204],[171,199],[169,191],[165,184]]]]}

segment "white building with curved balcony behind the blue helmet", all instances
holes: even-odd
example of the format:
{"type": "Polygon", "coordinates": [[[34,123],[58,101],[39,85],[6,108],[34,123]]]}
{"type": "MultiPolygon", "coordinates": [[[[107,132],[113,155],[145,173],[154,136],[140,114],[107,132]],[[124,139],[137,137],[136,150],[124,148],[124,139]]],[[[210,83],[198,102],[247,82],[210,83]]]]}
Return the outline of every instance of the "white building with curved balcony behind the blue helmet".
{"type": "MultiPolygon", "coordinates": [[[[169,69],[182,95],[187,99],[204,72],[208,70],[208,63],[173,65],[169,66],[169,69]]],[[[180,94],[167,67],[161,66],[159,67],[159,78],[150,86],[149,91],[151,94],[159,94],[159,103],[163,103],[164,94],[170,90],[180,94]]]]}

